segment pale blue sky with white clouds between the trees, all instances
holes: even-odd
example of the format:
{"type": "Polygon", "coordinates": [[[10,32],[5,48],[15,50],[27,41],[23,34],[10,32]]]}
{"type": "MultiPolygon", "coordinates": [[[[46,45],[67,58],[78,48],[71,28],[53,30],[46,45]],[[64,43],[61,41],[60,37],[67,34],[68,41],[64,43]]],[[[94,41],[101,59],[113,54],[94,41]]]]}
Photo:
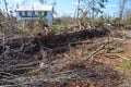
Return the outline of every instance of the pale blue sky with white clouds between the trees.
{"type": "MultiPolygon", "coordinates": [[[[57,2],[55,5],[55,10],[58,13],[58,16],[62,15],[74,15],[76,10],[78,0],[46,0],[47,4],[51,4],[57,2]]],[[[3,0],[0,0],[0,8],[4,8],[3,0]]],[[[9,9],[14,10],[16,4],[21,5],[33,5],[39,4],[39,0],[7,0],[9,9]]],[[[127,7],[129,8],[129,2],[127,2],[127,7]]],[[[110,14],[112,16],[117,16],[119,13],[119,0],[108,0],[106,3],[106,9],[104,9],[104,14],[110,14]]]]}

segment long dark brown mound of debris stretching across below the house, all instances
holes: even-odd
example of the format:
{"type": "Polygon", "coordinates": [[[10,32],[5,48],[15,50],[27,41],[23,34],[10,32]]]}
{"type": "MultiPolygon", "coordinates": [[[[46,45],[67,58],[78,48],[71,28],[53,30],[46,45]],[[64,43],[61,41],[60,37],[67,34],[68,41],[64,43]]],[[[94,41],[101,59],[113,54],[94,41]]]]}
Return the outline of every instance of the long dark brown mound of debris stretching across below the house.
{"type": "MultiPolygon", "coordinates": [[[[41,47],[56,48],[60,46],[68,46],[71,42],[82,41],[87,38],[102,37],[109,33],[108,29],[84,29],[80,32],[66,33],[66,34],[48,34],[43,35],[38,33],[34,37],[8,39],[5,46],[10,49],[21,49],[23,52],[37,52],[41,47]],[[24,44],[24,45],[23,45],[24,44]]],[[[0,54],[2,53],[3,46],[0,39],[0,54]]],[[[7,50],[7,48],[4,49],[7,50]]]]}

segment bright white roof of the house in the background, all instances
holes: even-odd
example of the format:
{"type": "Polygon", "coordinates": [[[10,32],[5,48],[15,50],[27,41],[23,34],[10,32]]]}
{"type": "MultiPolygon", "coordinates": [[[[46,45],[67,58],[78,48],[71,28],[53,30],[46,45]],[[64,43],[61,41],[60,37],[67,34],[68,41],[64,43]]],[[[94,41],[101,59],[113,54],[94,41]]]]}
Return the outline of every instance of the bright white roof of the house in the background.
{"type": "Polygon", "coordinates": [[[28,7],[20,7],[16,11],[52,11],[52,5],[28,5],[28,7]]]}

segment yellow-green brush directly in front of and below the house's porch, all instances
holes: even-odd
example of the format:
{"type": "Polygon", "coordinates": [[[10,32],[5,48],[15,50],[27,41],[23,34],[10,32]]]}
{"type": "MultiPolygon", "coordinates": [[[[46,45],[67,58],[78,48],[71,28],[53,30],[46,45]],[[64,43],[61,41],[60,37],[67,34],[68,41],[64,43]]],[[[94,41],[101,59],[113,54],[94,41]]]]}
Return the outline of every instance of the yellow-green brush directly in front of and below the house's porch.
{"type": "Polygon", "coordinates": [[[19,21],[17,30],[26,34],[37,33],[48,26],[43,12],[38,12],[38,16],[35,20],[26,20],[26,25],[24,25],[24,22],[25,20],[19,21]]]}

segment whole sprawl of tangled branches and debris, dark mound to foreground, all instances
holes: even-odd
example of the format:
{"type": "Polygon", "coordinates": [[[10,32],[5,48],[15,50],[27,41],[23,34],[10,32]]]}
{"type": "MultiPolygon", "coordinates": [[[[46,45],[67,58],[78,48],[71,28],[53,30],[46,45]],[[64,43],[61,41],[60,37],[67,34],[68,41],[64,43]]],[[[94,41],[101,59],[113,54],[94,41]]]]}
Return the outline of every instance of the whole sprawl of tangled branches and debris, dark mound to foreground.
{"type": "Polygon", "coordinates": [[[0,86],[3,87],[118,87],[122,75],[104,63],[93,61],[110,40],[83,41],[102,37],[108,29],[84,29],[68,34],[38,33],[33,37],[0,40],[0,86]],[[86,58],[70,55],[76,45],[95,51],[86,58]],[[62,53],[66,53],[64,55],[62,53]]]}

